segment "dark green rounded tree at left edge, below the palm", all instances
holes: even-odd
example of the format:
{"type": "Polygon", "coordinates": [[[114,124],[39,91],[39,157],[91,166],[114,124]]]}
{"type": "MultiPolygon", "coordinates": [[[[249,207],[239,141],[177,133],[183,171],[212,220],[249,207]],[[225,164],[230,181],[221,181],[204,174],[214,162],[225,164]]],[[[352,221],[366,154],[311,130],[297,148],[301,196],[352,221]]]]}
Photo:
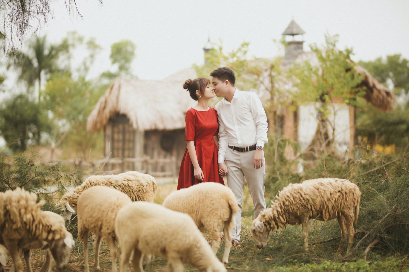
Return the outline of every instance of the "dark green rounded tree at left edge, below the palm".
{"type": "Polygon", "coordinates": [[[19,94],[5,100],[0,106],[0,135],[11,150],[25,150],[27,145],[39,144],[41,133],[50,130],[48,117],[43,107],[19,94]]]}

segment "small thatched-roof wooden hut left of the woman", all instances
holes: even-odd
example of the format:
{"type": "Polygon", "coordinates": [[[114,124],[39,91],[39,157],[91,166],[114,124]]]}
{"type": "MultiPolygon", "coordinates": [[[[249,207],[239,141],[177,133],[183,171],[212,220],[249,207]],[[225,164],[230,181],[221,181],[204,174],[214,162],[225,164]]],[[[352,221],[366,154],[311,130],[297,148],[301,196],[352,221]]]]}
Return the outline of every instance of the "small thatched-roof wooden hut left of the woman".
{"type": "Polygon", "coordinates": [[[104,130],[106,169],[175,177],[186,142],[186,111],[195,104],[180,80],[118,77],[88,116],[87,130],[104,130]]]}

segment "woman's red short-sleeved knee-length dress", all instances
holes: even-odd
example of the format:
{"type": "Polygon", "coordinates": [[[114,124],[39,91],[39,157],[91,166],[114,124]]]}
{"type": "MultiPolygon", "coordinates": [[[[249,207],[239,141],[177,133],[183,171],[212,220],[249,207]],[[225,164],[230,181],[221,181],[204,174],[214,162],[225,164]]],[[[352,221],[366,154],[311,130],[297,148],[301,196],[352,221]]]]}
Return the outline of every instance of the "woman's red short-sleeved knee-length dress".
{"type": "MultiPolygon", "coordinates": [[[[203,182],[214,181],[224,185],[223,178],[219,176],[217,146],[213,139],[217,133],[217,112],[214,108],[209,107],[208,111],[190,108],[187,111],[186,141],[194,141],[198,163],[205,176],[203,182]]],[[[202,182],[193,174],[193,164],[186,148],[179,170],[178,190],[202,182]]]]}

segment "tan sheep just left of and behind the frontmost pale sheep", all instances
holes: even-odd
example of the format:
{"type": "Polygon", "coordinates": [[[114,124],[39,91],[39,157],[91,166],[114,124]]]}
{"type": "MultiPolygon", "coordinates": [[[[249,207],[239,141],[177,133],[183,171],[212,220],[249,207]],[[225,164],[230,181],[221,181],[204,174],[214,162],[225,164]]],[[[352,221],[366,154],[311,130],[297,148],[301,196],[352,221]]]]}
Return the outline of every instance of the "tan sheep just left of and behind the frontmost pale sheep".
{"type": "Polygon", "coordinates": [[[101,238],[109,245],[112,257],[112,271],[117,271],[114,223],[118,210],[132,201],[123,192],[106,186],[92,186],[78,198],[78,237],[84,242],[85,271],[88,265],[88,232],[95,234],[94,266],[99,270],[99,246],[101,238]]]}

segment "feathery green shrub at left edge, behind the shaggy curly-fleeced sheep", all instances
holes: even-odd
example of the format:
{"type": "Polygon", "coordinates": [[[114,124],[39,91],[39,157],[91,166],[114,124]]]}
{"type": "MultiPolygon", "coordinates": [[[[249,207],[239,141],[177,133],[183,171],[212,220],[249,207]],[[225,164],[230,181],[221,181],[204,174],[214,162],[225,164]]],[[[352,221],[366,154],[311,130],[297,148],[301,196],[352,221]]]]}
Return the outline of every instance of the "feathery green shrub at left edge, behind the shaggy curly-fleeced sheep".
{"type": "Polygon", "coordinates": [[[9,162],[4,153],[0,153],[0,192],[20,187],[36,193],[48,203],[52,203],[53,195],[65,193],[65,188],[74,183],[75,177],[59,164],[41,166],[40,159],[32,152],[30,155],[15,155],[9,162]]]}

